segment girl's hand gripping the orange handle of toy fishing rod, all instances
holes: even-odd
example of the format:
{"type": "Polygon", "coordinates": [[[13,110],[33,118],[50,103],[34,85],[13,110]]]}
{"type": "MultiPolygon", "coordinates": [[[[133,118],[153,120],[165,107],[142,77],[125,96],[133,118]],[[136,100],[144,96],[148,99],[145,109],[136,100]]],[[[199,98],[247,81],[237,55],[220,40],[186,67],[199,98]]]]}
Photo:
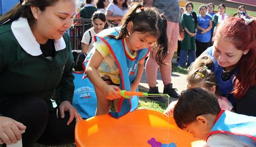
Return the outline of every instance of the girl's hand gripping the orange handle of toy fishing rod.
{"type": "Polygon", "coordinates": [[[114,85],[106,85],[103,87],[103,95],[106,97],[106,99],[113,100],[118,99],[121,96],[118,94],[117,91],[120,91],[121,89],[118,86],[114,85]]]}

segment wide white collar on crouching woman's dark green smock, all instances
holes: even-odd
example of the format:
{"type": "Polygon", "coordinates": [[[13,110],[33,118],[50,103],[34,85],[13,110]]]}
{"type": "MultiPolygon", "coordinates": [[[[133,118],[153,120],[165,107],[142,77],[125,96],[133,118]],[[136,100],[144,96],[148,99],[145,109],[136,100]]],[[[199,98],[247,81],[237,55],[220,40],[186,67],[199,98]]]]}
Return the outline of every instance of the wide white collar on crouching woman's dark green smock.
{"type": "MultiPolygon", "coordinates": [[[[19,45],[23,50],[33,56],[43,54],[35,36],[33,35],[27,18],[19,18],[11,24],[12,33],[14,33],[19,45]]],[[[62,38],[54,40],[55,50],[60,51],[66,48],[65,40],[62,38]]]]}

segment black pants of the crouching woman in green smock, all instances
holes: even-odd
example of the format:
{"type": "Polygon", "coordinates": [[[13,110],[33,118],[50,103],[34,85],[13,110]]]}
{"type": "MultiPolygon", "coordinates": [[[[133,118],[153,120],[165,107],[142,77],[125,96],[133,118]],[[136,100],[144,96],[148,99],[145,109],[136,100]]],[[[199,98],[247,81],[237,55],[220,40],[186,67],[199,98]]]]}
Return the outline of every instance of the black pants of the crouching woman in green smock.
{"type": "Polygon", "coordinates": [[[33,146],[35,143],[44,145],[63,145],[75,142],[76,121],[66,125],[69,113],[60,118],[57,108],[48,110],[43,99],[35,95],[14,96],[0,103],[0,113],[26,126],[22,134],[23,146],[33,146]]]}

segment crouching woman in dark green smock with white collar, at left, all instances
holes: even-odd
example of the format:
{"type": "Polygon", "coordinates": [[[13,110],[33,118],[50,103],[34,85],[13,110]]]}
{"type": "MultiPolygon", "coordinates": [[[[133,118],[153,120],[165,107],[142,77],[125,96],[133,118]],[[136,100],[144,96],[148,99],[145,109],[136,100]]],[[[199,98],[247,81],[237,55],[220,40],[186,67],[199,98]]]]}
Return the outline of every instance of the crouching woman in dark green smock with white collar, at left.
{"type": "Polygon", "coordinates": [[[74,143],[81,117],[65,31],[75,11],[75,0],[25,0],[0,17],[0,144],[74,143]]]}

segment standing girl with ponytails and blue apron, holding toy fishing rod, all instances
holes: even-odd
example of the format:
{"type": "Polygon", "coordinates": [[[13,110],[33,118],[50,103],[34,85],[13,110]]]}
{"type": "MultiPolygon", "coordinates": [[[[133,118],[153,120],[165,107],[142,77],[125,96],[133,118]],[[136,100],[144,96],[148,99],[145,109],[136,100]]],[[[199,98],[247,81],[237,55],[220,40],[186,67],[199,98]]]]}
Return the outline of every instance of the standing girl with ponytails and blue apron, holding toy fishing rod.
{"type": "Polygon", "coordinates": [[[85,72],[97,94],[96,115],[109,113],[111,102],[120,115],[138,106],[138,101],[120,98],[121,89],[136,91],[142,78],[144,58],[150,46],[157,46],[156,60],[160,64],[167,55],[167,21],[156,8],[144,8],[134,3],[121,21],[120,27],[100,32],[95,38],[95,51],[87,56],[85,72]],[[90,57],[91,56],[91,57],[90,57]],[[90,58],[90,59],[89,59],[90,58]],[[125,106],[125,103],[133,106],[125,106]],[[123,108],[128,108],[123,110],[123,108]]]}

